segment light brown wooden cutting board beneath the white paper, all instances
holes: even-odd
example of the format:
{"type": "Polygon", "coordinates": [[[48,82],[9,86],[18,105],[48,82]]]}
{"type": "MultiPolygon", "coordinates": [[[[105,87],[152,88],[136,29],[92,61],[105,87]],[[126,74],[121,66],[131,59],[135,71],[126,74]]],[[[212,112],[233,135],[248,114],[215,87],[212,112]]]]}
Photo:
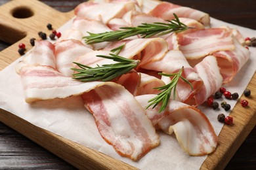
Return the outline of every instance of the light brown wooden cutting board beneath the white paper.
{"type": "MultiPolygon", "coordinates": [[[[37,35],[39,31],[43,31],[47,35],[51,33],[46,27],[48,23],[51,23],[54,29],[58,29],[72,17],[74,17],[74,11],[58,12],[39,1],[12,0],[1,6],[0,40],[9,42],[12,46],[0,52],[0,70],[20,57],[18,54],[20,42],[26,44],[26,51],[28,51],[32,48],[30,39],[32,37],[39,39],[37,35]]],[[[234,107],[230,113],[234,117],[234,124],[232,126],[224,125],[219,134],[217,150],[207,156],[201,169],[223,169],[255,126],[256,75],[253,76],[247,88],[251,90],[251,97],[247,98],[250,103],[249,107],[244,109],[239,104],[234,107]]],[[[78,169],[120,169],[120,167],[121,169],[136,169],[101,152],[33,126],[30,122],[2,109],[0,110],[0,121],[78,169]]]]}

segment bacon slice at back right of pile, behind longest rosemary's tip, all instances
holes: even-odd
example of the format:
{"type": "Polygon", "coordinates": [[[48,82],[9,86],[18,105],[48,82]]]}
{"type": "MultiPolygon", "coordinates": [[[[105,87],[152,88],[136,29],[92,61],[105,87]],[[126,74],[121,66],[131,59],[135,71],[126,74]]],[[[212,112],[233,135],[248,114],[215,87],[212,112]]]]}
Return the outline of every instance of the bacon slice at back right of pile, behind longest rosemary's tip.
{"type": "Polygon", "coordinates": [[[172,20],[174,19],[173,13],[177,14],[178,17],[197,20],[205,26],[209,26],[210,23],[209,14],[206,14],[205,12],[191,9],[189,7],[181,7],[180,5],[175,5],[173,3],[167,2],[162,2],[158,4],[148,14],[163,18],[163,20],[172,20]]]}

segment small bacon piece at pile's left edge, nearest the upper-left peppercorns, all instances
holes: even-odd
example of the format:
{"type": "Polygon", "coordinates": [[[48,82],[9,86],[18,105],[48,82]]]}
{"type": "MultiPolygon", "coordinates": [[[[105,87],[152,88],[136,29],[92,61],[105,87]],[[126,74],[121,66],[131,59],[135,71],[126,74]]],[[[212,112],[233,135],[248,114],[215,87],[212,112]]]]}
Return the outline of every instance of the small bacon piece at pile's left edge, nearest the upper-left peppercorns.
{"type": "Polygon", "coordinates": [[[26,54],[24,59],[16,65],[16,73],[26,65],[47,65],[56,68],[55,47],[49,41],[35,41],[35,46],[26,54]]]}

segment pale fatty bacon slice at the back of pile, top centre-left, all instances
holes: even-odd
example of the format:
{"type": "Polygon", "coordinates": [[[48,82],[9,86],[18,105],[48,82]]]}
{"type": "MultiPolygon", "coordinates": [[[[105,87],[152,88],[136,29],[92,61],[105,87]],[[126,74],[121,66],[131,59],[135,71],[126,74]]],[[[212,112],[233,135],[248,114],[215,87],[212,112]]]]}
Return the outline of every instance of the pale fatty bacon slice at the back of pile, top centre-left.
{"type": "Polygon", "coordinates": [[[94,3],[89,1],[79,4],[75,8],[75,15],[108,24],[112,18],[121,18],[132,9],[135,9],[133,2],[94,3]]]}

